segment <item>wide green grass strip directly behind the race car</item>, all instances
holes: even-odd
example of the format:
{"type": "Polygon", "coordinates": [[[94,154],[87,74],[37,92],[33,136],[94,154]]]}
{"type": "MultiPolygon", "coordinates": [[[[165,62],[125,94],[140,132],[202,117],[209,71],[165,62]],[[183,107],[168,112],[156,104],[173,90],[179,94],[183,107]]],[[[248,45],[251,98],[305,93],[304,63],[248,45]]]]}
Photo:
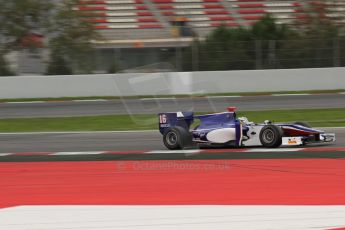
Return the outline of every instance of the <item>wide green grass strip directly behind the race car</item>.
{"type": "MultiPolygon", "coordinates": [[[[345,127],[345,108],[239,112],[254,122],[307,121],[314,127],[345,127]]],[[[110,115],[0,119],[0,132],[115,131],[157,129],[157,115],[110,115]]]]}

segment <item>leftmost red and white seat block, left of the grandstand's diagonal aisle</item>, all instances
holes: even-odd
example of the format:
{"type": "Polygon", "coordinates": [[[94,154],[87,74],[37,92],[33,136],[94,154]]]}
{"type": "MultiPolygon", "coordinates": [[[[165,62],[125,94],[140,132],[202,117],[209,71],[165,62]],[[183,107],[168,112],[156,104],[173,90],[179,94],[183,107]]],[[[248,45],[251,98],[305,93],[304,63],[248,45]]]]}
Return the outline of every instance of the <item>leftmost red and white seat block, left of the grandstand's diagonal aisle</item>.
{"type": "Polygon", "coordinates": [[[144,0],[84,0],[79,2],[76,9],[86,13],[86,20],[94,23],[96,29],[102,30],[101,34],[106,39],[136,39],[138,34],[148,38],[169,36],[164,31],[164,24],[155,17],[144,0]],[[150,34],[126,31],[133,29],[144,29],[150,34]]]}

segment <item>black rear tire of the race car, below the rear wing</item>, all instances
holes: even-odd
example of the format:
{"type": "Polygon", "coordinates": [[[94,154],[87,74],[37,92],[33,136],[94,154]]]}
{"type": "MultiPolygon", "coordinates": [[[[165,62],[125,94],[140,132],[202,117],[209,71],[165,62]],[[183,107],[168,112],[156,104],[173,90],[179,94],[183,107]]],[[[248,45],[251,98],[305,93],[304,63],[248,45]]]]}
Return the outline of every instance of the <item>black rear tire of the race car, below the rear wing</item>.
{"type": "Polygon", "coordinates": [[[163,134],[163,143],[170,150],[184,149],[192,144],[192,135],[182,127],[173,127],[163,134]]]}

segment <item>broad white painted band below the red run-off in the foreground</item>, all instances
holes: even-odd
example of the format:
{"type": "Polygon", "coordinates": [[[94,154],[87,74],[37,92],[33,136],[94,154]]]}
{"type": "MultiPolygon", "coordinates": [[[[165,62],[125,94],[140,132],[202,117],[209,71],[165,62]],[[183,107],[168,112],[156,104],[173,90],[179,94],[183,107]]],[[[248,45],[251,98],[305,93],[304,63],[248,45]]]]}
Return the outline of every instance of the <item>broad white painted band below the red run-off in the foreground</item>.
{"type": "Polygon", "coordinates": [[[324,230],[345,227],[344,205],[42,205],[1,210],[2,229],[324,230]]]}

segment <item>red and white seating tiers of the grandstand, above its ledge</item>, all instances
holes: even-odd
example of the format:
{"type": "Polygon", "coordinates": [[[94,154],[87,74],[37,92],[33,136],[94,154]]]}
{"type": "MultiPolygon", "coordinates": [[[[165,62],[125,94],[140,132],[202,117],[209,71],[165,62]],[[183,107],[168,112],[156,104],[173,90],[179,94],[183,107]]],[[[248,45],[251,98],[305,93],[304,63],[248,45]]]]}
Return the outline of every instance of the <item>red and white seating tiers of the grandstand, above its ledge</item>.
{"type": "Polygon", "coordinates": [[[342,0],[84,0],[76,9],[85,12],[105,40],[111,41],[204,37],[219,25],[246,27],[265,14],[278,23],[294,24],[313,4],[324,6],[326,17],[344,22],[342,0]],[[192,32],[181,33],[176,27],[192,32]]]}

